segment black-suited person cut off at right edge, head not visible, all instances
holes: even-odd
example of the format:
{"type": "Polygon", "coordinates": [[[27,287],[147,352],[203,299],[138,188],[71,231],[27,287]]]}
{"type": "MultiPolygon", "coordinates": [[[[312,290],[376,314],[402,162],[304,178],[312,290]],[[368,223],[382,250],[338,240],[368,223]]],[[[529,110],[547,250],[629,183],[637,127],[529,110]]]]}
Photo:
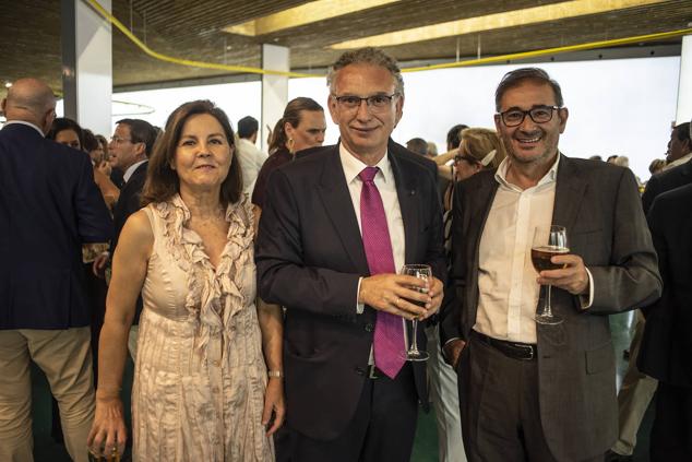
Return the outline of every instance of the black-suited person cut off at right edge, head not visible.
{"type": "MultiPolygon", "coordinates": [[[[678,167],[680,168],[680,167],[678,167]]],[[[660,194],[647,215],[664,280],[644,310],[637,366],[658,380],[652,461],[692,460],[692,185],[660,194]]]]}

